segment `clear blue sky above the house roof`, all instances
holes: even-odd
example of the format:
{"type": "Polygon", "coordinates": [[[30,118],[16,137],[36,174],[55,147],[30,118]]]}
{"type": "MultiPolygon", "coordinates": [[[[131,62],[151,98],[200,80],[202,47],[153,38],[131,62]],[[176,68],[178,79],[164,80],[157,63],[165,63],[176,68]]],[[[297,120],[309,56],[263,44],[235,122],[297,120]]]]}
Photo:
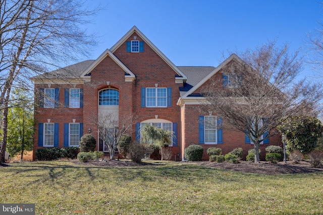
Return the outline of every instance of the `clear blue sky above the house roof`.
{"type": "MultiPolygon", "coordinates": [[[[106,0],[104,10],[85,26],[100,36],[92,56],[111,48],[134,25],[175,65],[217,66],[223,53],[277,38],[290,51],[305,47],[307,34],[319,28],[323,9],[315,0],[106,0]]],[[[305,54],[305,52],[301,52],[305,54]]],[[[309,71],[309,66],[305,67],[309,71]]],[[[312,72],[312,71],[310,71],[312,72]]]]}

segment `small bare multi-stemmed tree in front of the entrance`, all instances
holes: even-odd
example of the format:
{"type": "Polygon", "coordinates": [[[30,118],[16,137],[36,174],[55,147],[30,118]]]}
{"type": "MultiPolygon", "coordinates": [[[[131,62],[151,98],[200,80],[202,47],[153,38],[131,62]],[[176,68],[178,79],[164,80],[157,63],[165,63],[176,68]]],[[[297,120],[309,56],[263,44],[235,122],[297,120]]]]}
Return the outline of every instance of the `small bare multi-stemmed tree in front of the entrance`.
{"type": "Polygon", "coordinates": [[[119,119],[118,114],[114,112],[99,113],[97,118],[95,116],[92,118],[91,121],[96,125],[99,138],[103,140],[104,148],[109,151],[111,160],[114,159],[121,136],[131,132],[135,119],[135,115],[119,119]]]}

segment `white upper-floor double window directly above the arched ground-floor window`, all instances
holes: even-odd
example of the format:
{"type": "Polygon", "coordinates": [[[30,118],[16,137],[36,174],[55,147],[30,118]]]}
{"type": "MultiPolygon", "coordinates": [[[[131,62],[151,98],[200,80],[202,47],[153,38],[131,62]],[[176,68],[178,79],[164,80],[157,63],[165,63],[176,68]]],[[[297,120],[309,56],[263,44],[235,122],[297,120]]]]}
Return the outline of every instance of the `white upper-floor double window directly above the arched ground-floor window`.
{"type": "Polygon", "coordinates": [[[166,88],[146,88],[146,107],[167,107],[166,88]]]}

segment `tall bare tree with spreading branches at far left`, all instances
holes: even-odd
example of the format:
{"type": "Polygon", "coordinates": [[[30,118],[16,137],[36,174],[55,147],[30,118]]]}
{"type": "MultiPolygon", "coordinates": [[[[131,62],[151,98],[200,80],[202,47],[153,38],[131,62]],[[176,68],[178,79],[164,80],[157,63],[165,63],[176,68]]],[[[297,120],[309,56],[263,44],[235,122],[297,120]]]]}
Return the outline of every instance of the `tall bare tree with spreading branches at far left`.
{"type": "Polygon", "coordinates": [[[97,10],[81,0],[0,0],[0,110],[3,110],[4,161],[7,141],[8,104],[12,88],[89,53],[92,35],[81,27],[97,10]]]}

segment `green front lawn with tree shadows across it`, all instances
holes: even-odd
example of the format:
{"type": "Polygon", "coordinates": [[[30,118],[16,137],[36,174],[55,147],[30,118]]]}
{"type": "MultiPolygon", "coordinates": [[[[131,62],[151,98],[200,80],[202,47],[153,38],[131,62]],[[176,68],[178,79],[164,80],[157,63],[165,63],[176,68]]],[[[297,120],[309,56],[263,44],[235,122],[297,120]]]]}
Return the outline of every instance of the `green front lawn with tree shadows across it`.
{"type": "Polygon", "coordinates": [[[0,167],[0,202],[36,214],[322,214],[323,173],[259,175],[163,162],[140,167],[71,161],[0,167]]]}

